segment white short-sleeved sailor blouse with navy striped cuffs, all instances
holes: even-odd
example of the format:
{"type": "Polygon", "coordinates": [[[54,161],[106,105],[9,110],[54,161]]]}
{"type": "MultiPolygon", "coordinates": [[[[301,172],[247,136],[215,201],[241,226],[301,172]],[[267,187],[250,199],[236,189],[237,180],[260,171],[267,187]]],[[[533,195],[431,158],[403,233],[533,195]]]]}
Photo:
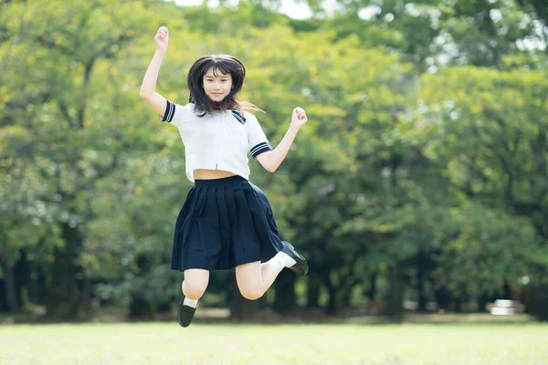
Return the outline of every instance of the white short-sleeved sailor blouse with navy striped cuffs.
{"type": "Polygon", "coordinates": [[[272,151],[269,140],[257,118],[247,111],[216,111],[214,115],[199,117],[194,104],[184,107],[167,100],[163,118],[174,124],[184,143],[185,171],[194,183],[194,170],[224,170],[249,180],[248,151],[253,158],[272,151]]]}

